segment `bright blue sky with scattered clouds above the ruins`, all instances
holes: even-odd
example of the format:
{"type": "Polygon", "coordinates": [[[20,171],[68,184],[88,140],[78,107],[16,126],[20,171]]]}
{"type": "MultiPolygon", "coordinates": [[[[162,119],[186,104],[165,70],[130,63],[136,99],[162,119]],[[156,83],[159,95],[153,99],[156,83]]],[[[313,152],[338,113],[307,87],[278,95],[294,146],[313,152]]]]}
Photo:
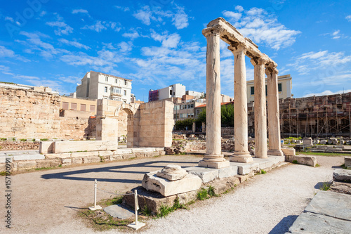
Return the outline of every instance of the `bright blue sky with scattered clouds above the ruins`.
{"type": "MultiPolygon", "coordinates": [[[[208,22],[223,17],[291,74],[295,98],[351,91],[350,1],[6,1],[0,6],[0,81],[75,91],[90,70],[150,89],[206,91],[208,22]],[[103,4],[102,4],[103,2],[103,4]]],[[[220,45],[221,92],[234,60],[220,45]]],[[[253,66],[246,59],[247,79],[253,66]]]]}

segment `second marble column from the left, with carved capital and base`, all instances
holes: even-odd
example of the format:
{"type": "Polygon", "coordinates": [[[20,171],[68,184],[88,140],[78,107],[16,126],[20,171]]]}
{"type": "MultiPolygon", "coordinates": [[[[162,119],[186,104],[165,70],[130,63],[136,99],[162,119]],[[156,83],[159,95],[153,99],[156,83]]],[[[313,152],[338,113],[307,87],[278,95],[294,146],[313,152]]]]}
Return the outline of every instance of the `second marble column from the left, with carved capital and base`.
{"type": "Polygon", "coordinates": [[[234,54],[234,153],[231,162],[253,162],[248,150],[245,46],[228,46],[234,54]]]}

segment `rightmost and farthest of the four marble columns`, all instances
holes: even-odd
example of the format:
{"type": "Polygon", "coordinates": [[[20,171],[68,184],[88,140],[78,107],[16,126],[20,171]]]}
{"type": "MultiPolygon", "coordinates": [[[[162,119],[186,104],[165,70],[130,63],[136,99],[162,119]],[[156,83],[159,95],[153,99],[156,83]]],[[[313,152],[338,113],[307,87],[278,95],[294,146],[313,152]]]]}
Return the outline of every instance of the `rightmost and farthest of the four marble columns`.
{"type": "Polygon", "coordinates": [[[267,155],[283,156],[280,146],[278,70],[275,67],[267,67],[265,74],[267,74],[268,137],[270,139],[267,155]]]}

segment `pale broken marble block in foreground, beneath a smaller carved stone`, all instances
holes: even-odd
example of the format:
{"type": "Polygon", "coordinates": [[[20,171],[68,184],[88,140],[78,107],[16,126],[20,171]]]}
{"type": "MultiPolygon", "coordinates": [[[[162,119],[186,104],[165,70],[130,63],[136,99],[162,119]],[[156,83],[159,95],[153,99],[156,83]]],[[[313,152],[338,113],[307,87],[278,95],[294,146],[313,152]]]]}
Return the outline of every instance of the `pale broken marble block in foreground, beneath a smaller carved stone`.
{"type": "Polygon", "coordinates": [[[145,174],[142,181],[143,187],[147,190],[161,193],[165,197],[197,190],[202,184],[201,178],[192,174],[187,174],[187,176],[178,181],[168,181],[165,178],[158,177],[156,174],[157,171],[145,174]]]}

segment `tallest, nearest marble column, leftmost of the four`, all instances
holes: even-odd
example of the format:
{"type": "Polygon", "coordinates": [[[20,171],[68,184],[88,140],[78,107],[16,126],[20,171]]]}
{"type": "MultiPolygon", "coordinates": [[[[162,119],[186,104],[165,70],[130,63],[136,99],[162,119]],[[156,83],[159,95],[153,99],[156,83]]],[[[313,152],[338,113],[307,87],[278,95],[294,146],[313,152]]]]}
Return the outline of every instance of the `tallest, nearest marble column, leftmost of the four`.
{"type": "Polygon", "coordinates": [[[220,136],[220,33],[204,32],[207,39],[206,54],[206,154],[199,167],[229,167],[222,155],[220,136]]]}

